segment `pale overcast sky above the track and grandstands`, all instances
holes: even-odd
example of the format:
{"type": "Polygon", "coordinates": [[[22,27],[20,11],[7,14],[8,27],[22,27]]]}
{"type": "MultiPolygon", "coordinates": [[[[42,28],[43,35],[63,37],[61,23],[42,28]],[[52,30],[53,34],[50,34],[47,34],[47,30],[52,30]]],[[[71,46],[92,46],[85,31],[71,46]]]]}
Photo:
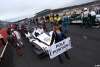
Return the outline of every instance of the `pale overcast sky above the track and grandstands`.
{"type": "Polygon", "coordinates": [[[0,20],[14,22],[44,9],[57,9],[93,0],[0,0],[0,20]]]}

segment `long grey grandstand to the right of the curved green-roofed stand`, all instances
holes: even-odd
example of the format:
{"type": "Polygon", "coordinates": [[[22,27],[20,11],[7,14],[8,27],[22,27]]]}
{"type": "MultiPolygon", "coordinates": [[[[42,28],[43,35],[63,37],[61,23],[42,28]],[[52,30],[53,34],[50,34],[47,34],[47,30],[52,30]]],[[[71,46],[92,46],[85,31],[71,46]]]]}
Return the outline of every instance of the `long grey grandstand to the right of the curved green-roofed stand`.
{"type": "Polygon", "coordinates": [[[88,2],[88,3],[84,3],[84,4],[80,4],[80,5],[74,5],[74,6],[70,6],[70,7],[54,9],[54,10],[52,10],[52,12],[57,13],[57,12],[62,12],[63,10],[69,11],[69,10],[72,10],[72,9],[81,10],[84,7],[90,8],[91,5],[94,5],[94,7],[97,7],[98,5],[100,5],[100,0],[94,0],[93,2],[88,2]]]}

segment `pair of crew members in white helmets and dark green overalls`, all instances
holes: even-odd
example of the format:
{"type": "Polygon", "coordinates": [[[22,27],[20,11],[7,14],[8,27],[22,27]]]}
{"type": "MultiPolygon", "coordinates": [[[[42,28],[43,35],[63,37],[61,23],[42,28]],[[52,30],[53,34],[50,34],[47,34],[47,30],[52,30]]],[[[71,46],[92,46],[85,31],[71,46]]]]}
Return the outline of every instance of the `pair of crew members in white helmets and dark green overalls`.
{"type": "Polygon", "coordinates": [[[85,28],[94,26],[95,19],[96,19],[96,12],[92,9],[88,10],[87,8],[84,8],[84,10],[82,12],[81,28],[84,25],[85,25],[85,28]]]}

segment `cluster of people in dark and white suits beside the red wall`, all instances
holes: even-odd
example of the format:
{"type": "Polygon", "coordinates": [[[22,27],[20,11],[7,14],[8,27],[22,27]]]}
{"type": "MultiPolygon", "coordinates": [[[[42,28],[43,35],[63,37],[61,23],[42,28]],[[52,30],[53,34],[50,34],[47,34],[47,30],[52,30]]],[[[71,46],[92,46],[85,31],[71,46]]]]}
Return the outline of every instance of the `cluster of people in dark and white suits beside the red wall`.
{"type": "Polygon", "coordinates": [[[11,44],[16,49],[16,53],[18,56],[21,56],[22,53],[20,49],[24,46],[22,39],[26,38],[25,33],[27,33],[27,24],[23,22],[20,26],[16,24],[12,24],[8,27],[7,30],[7,41],[8,44],[11,44]]]}

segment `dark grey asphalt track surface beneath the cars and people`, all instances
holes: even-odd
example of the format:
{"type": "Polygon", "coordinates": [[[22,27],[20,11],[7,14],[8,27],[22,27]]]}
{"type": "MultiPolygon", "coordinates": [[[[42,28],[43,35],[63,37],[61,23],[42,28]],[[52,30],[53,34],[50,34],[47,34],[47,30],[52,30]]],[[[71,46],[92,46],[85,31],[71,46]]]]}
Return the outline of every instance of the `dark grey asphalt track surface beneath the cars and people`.
{"type": "MultiPolygon", "coordinates": [[[[32,25],[36,26],[36,25],[32,25]]],[[[50,23],[47,28],[51,29],[50,23]]],[[[15,49],[8,44],[0,67],[96,67],[100,65],[100,28],[80,28],[80,25],[69,25],[66,36],[71,37],[72,49],[68,50],[70,59],[61,54],[63,64],[59,58],[50,59],[49,56],[39,58],[33,51],[28,40],[23,40],[25,47],[20,50],[18,57],[15,49]]]]}

